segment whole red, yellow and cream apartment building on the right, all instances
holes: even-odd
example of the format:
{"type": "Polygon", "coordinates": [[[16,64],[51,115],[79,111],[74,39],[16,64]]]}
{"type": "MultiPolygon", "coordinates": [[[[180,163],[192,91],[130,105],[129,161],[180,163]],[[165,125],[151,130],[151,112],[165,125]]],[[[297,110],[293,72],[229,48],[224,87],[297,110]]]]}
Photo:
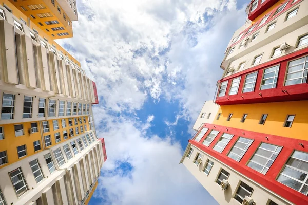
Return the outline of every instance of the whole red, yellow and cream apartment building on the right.
{"type": "Polygon", "coordinates": [[[180,161],[219,204],[308,203],[307,8],[251,1],[225,51],[180,161]]]}

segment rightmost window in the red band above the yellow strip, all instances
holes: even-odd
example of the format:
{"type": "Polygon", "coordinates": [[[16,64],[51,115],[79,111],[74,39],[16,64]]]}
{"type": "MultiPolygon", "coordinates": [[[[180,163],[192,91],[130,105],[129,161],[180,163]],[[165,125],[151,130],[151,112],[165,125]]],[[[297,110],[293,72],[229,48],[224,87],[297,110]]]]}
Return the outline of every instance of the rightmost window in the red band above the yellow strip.
{"type": "Polygon", "coordinates": [[[307,82],[308,56],[290,61],[287,67],[284,85],[296,85],[307,82]]]}

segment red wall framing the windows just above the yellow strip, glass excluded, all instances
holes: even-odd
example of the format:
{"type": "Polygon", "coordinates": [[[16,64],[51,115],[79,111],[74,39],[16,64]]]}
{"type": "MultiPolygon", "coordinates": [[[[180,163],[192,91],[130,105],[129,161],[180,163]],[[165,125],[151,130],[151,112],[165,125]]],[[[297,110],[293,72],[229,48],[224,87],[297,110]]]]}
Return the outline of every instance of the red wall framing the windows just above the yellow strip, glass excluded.
{"type": "Polygon", "coordinates": [[[225,80],[228,80],[228,85],[226,88],[225,96],[218,97],[219,94],[218,92],[216,103],[219,105],[230,105],[230,104],[308,100],[307,83],[284,86],[284,78],[286,75],[288,61],[304,57],[307,54],[308,54],[308,48],[304,48],[299,51],[290,53],[288,55],[284,55],[281,58],[274,59],[272,61],[263,63],[261,65],[249,68],[242,72],[235,73],[232,76],[228,76],[224,79],[221,79],[218,82],[225,82],[225,80]],[[276,88],[260,90],[259,88],[262,82],[263,69],[274,65],[280,65],[276,88]],[[258,76],[255,84],[255,90],[252,92],[242,93],[246,75],[256,71],[258,71],[258,76]],[[238,77],[241,77],[238,94],[228,95],[232,80],[238,77]],[[286,92],[284,90],[286,90],[286,92]]]}

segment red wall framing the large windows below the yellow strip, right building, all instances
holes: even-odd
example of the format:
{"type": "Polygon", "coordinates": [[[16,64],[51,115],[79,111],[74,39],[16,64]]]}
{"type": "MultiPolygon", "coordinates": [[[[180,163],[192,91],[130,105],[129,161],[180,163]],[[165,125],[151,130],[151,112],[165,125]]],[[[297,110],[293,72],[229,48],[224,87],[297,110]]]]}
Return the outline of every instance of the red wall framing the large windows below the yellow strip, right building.
{"type": "MultiPolygon", "coordinates": [[[[292,152],[295,150],[308,152],[308,146],[300,146],[299,143],[303,143],[304,145],[308,145],[308,141],[305,140],[298,140],[293,138],[286,138],[286,137],[280,137],[276,135],[269,135],[269,134],[263,134],[263,133],[257,133],[257,132],[251,132],[251,131],[244,131],[242,129],[232,128],[232,127],[225,127],[215,124],[205,124],[203,127],[209,128],[208,131],[205,133],[205,135],[202,137],[200,142],[197,142],[195,140],[189,140],[189,142],[198,147],[200,150],[204,151],[205,153],[209,154],[210,156],[215,157],[222,163],[224,163],[226,166],[232,167],[236,171],[240,172],[241,174],[245,175],[246,177],[256,181],[257,183],[263,185],[263,187],[266,187],[267,189],[277,193],[281,197],[291,201],[295,204],[308,204],[308,198],[304,194],[301,194],[286,185],[276,181],[276,177],[279,175],[281,169],[283,168],[284,164],[292,154],[292,152]],[[216,138],[211,142],[209,147],[202,144],[206,136],[209,134],[211,129],[215,129],[217,131],[220,131],[219,134],[216,136],[216,138]],[[223,133],[229,133],[234,134],[233,138],[230,140],[230,142],[227,144],[227,146],[224,148],[222,153],[218,153],[215,150],[213,150],[214,145],[217,143],[219,138],[223,133]],[[244,134],[243,134],[244,133],[244,134]],[[248,148],[243,158],[240,160],[240,162],[237,162],[229,157],[227,157],[227,153],[230,151],[230,149],[233,147],[235,142],[239,137],[245,137],[254,139],[254,142],[252,145],[248,148]],[[265,139],[265,137],[268,138],[268,140],[265,139]],[[277,156],[276,160],[272,164],[272,166],[269,168],[268,172],[263,175],[250,167],[246,166],[248,160],[252,157],[252,155],[257,150],[258,146],[261,142],[269,143],[269,144],[275,144],[282,146],[282,150],[277,156]]],[[[200,128],[200,130],[202,127],[200,128]]],[[[232,174],[232,173],[231,173],[232,174]]]]}

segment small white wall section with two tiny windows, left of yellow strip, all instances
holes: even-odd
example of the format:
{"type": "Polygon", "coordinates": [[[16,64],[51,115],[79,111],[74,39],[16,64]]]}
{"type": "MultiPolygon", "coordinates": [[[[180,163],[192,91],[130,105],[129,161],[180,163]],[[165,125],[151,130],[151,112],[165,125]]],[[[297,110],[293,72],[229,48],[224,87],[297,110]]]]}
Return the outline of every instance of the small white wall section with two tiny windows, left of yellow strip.
{"type": "Polygon", "coordinates": [[[219,105],[215,104],[213,101],[208,100],[205,101],[205,103],[203,104],[203,107],[198,115],[198,118],[194,124],[194,126],[192,127],[193,129],[195,129],[195,131],[198,130],[198,128],[201,126],[201,124],[203,123],[212,123],[217,115],[217,111],[219,109],[219,105]],[[201,118],[202,113],[205,113],[205,116],[203,118],[201,118]],[[207,119],[208,114],[211,113],[210,117],[207,119]]]}

